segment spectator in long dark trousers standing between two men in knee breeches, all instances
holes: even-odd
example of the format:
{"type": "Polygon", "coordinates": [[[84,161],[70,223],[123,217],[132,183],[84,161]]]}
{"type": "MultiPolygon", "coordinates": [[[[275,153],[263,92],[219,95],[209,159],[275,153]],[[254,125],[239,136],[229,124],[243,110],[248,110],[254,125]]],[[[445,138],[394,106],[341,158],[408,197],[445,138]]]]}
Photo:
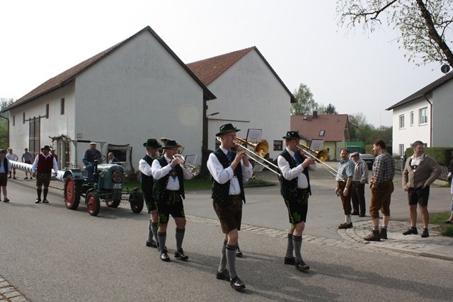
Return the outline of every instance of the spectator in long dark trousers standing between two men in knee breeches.
{"type": "Polygon", "coordinates": [[[351,199],[354,213],[359,213],[359,217],[365,217],[367,211],[365,206],[365,184],[368,183],[368,166],[365,161],[360,159],[360,153],[351,153],[351,159],[354,163],[354,175],[351,182],[351,199]]]}

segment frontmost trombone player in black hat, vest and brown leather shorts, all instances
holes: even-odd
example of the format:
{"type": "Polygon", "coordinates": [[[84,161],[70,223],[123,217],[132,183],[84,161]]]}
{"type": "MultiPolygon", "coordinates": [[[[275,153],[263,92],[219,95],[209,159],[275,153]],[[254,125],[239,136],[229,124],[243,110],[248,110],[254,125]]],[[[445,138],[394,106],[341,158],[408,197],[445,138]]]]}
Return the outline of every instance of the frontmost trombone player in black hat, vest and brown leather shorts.
{"type": "Polygon", "coordinates": [[[238,231],[241,230],[242,202],[246,202],[243,182],[252,176],[252,165],[246,151],[232,150],[236,146],[238,131],[232,124],[222,125],[216,134],[220,147],[211,153],[207,160],[207,168],[212,176],[212,205],[225,234],[216,278],[229,281],[236,291],[246,287],[236,273],[235,263],[238,231]]]}

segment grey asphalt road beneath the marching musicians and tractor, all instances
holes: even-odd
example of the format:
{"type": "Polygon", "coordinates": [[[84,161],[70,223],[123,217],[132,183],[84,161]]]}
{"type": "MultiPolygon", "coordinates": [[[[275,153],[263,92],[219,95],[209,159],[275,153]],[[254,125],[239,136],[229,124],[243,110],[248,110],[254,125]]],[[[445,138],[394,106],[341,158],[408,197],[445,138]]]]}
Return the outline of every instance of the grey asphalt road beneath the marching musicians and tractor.
{"type": "MultiPolygon", "coordinates": [[[[33,182],[11,181],[11,203],[0,203],[0,275],[30,301],[451,301],[452,262],[329,244],[329,238],[338,238],[343,214],[333,188],[324,182],[331,180],[312,181],[306,232],[326,240],[304,242],[309,273],[282,264],[285,238],[241,231],[245,257],[236,267],[247,288],[236,292],[215,279],[223,239],[209,219],[214,218],[209,192],[191,192],[185,200],[191,218],[183,248],[189,261],[171,255],[171,262],[162,262],[156,250],[144,246],[149,219],[144,212],[103,205],[92,217],[83,204],[77,211],[66,209],[58,190],[51,190],[50,204],[35,204],[33,182]]],[[[445,210],[449,194],[442,190],[432,199],[440,200],[444,191],[448,199],[432,207],[445,210]]],[[[277,187],[250,188],[246,194],[243,223],[287,228],[277,187]]],[[[396,192],[394,200],[399,198],[396,192]]],[[[396,216],[406,216],[403,200],[401,194],[401,204],[392,202],[396,216]]],[[[173,230],[171,222],[171,254],[173,230]]]]}

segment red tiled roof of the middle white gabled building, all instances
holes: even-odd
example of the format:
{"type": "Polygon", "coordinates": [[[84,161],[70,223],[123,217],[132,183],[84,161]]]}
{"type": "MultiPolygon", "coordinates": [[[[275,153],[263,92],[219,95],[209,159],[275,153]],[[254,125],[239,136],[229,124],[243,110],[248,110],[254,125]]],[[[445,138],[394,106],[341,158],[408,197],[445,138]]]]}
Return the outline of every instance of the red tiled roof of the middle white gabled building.
{"type": "Polygon", "coordinates": [[[261,59],[263,59],[263,61],[268,66],[270,71],[274,74],[274,76],[277,78],[277,80],[280,81],[283,88],[285,88],[287,93],[291,95],[291,103],[297,103],[297,100],[296,98],[294,98],[294,95],[292,95],[287,86],[285,86],[285,83],[283,83],[282,79],[280,79],[280,77],[270,66],[268,61],[266,61],[266,59],[263,57],[263,54],[261,54],[258,48],[256,48],[255,46],[248,47],[243,50],[236,50],[235,52],[229,52],[227,54],[221,54],[217,57],[192,62],[187,64],[187,66],[189,67],[190,70],[193,71],[193,73],[198,77],[198,79],[202,81],[202,83],[208,86],[210,83],[212,83],[212,81],[217,79],[227,69],[236,64],[236,62],[238,62],[239,59],[248,54],[248,52],[250,52],[251,50],[255,50],[258,53],[258,55],[261,57],[261,59]]]}

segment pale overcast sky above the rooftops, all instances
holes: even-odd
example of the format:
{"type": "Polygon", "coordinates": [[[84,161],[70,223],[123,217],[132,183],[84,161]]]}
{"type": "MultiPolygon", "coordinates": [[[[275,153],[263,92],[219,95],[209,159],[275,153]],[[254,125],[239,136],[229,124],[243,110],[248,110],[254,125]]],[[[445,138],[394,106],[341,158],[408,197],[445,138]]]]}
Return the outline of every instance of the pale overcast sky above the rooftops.
{"type": "Polygon", "coordinates": [[[21,98],[147,25],[185,63],[256,46],[289,91],[391,125],[385,109],[443,74],[417,67],[389,28],[338,27],[334,0],[0,1],[0,98],[21,98]]]}

